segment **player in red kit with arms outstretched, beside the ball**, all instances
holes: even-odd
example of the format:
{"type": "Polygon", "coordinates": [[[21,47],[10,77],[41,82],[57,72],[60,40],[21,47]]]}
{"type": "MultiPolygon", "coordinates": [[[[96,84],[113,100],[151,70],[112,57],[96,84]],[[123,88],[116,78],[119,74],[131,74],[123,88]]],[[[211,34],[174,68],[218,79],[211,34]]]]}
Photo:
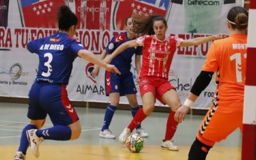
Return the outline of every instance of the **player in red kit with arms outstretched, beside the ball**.
{"type": "Polygon", "coordinates": [[[172,110],[167,119],[166,134],[161,148],[179,150],[179,147],[173,143],[172,137],[178,124],[174,120],[175,111],[181,106],[181,103],[178,93],[168,81],[173,55],[177,47],[203,44],[221,38],[221,35],[198,37],[191,40],[166,36],[167,22],[164,17],[159,15],[150,15],[145,20],[138,20],[134,17],[134,28],[136,33],[144,33],[146,35],[136,40],[125,42],[106,58],[106,61],[110,62],[125,49],[142,46],[143,63],[139,78],[143,108],[136,113],[131,123],[125,127],[118,139],[120,143],[125,143],[133,129],[152,113],[156,99],[158,99],[163,104],[167,104],[172,110]]]}

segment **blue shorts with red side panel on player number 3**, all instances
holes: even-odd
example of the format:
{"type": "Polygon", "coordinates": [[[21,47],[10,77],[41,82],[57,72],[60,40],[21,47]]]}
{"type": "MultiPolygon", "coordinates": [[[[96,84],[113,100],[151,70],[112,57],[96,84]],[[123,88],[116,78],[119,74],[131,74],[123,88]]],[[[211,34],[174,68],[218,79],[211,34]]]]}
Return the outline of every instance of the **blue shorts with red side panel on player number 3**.
{"type": "Polygon", "coordinates": [[[54,125],[70,125],[79,120],[68,99],[65,84],[35,82],[31,86],[28,118],[43,120],[47,114],[54,125]]]}

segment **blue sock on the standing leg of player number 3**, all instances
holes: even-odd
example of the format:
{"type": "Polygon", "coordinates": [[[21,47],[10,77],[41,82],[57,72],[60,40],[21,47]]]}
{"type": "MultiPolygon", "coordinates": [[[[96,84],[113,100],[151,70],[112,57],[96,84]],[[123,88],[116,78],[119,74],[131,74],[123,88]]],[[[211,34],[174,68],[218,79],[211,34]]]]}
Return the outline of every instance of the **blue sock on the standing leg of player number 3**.
{"type": "Polygon", "coordinates": [[[33,124],[28,124],[24,127],[24,129],[21,132],[21,137],[20,137],[20,147],[18,151],[22,152],[23,154],[27,153],[29,142],[27,138],[26,131],[29,129],[37,129],[35,125],[33,124]]]}

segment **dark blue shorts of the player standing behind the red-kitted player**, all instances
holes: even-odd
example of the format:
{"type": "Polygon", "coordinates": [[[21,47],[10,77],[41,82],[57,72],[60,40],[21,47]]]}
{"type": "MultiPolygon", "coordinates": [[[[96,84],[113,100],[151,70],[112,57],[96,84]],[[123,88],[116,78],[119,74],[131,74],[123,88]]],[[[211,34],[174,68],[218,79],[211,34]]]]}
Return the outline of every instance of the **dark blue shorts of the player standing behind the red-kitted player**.
{"type": "Polygon", "coordinates": [[[132,73],[122,73],[121,75],[106,71],[105,74],[105,90],[106,95],[118,92],[120,96],[136,94],[136,86],[134,84],[132,73]]]}

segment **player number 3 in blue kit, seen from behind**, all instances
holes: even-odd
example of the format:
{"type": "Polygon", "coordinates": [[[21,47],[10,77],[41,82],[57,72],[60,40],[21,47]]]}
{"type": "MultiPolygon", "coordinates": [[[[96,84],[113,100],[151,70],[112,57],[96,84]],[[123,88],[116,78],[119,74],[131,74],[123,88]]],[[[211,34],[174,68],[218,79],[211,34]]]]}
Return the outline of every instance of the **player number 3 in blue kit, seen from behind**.
{"type": "Polygon", "coordinates": [[[24,127],[20,146],[14,159],[26,159],[28,147],[35,157],[44,140],[76,140],[81,134],[81,124],[76,110],[68,100],[66,86],[77,56],[120,74],[114,65],[108,65],[84,49],[72,37],[76,34],[77,17],[68,6],[61,6],[58,13],[59,31],[51,36],[33,40],[27,49],[39,56],[38,74],[29,91],[28,118],[30,124],[24,127]],[[49,115],[54,127],[41,129],[49,115]]]}

